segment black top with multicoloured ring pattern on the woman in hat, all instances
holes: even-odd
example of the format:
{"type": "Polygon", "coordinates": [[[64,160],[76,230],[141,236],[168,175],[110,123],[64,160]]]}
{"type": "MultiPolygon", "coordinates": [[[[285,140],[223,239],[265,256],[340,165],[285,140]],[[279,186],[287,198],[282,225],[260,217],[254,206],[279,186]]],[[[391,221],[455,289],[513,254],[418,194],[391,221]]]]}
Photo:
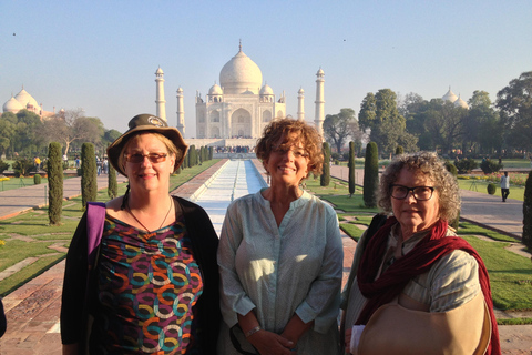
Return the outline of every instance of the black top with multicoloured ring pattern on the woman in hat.
{"type": "Polygon", "coordinates": [[[91,354],[201,354],[203,292],[184,219],[147,233],[106,216],[91,354]]]}

